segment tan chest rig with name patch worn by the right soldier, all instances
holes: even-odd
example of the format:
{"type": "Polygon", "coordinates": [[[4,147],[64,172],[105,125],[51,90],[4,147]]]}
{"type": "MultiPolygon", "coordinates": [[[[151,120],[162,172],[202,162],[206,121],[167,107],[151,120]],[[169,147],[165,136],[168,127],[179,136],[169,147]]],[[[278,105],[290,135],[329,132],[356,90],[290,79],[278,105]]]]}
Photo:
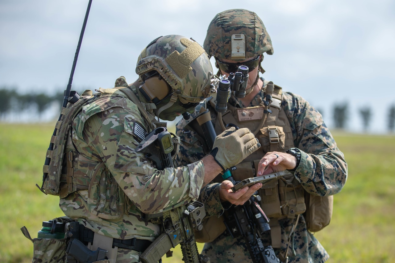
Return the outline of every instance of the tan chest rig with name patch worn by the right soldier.
{"type": "MultiPolygon", "coordinates": [[[[266,92],[266,85],[267,81],[262,88],[263,93],[266,92]]],[[[258,106],[246,108],[238,108],[228,103],[228,110],[222,114],[223,125],[234,124],[239,128],[249,128],[261,143],[256,152],[236,165],[237,169],[231,172],[235,180],[255,177],[258,164],[267,152],[285,152],[288,148],[294,147],[290,122],[281,107],[282,88],[274,85],[271,95],[271,113],[267,115],[263,124],[263,102],[258,106]]],[[[217,134],[222,132],[219,118],[215,121],[215,131],[217,134]]],[[[280,247],[281,230],[278,220],[293,219],[305,212],[304,190],[294,175],[290,174],[269,182],[258,190],[258,193],[262,197],[261,208],[271,218],[272,246],[280,247]]]]}

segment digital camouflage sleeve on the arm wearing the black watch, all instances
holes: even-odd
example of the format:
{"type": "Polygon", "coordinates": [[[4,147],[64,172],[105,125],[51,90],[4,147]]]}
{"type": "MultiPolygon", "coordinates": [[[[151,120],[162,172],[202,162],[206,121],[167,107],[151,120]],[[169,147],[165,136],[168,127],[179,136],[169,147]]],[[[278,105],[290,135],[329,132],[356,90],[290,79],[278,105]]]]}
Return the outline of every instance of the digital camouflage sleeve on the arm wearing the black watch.
{"type": "Polygon", "coordinates": [[[321,114],[298,95],[285,92],[283,96],[294,145],[302,155],[295,177],[308,193],[324,196],[340,192],[347,179],[347,163],[321,114]]]}

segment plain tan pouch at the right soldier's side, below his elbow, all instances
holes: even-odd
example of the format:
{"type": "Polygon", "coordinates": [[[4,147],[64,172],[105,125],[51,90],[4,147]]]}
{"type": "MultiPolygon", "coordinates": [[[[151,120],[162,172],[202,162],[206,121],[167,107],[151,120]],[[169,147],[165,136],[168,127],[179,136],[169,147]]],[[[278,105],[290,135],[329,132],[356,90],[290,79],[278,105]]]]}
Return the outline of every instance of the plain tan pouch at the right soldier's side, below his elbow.
{"type": "Polygon", "coordinates": [[[307,230],[317,232],[329,225],[333,212],[333,195],[319,196],[305,192],[307,230]]]}

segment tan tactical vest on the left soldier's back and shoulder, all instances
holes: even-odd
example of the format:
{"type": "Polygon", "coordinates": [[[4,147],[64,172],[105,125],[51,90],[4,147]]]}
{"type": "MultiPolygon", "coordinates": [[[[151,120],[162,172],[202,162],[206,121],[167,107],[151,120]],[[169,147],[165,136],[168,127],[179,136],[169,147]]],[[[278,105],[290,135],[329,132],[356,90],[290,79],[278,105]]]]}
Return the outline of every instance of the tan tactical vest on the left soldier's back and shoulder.
{"type": "MultiPolygon", "coordinates": [[[[117,81],[119,81],[119,79],[117,79],[117,81]]],[[[75,103],[68,103],[66,107],[62,107],[61,118],[55,126],[57,133],[51,139],[51,143],[54,143],[53,150],[47,151],[47,157],[49,157],[51,161],[49,165],[44,165],[43,167],[43,172],[47,173],[47,176],[43,178],[43,185],[41,187],[42,192],[51,195],[59,195],[60,198],[65,198],[70,193],[89,189],[92,187],[91,184],[94,182],[100,182],[99,177],[103,172],[105,172],[105,169],[107,169],[102,160],[94,158],[94,156],[91,156],[91,158],[88,159],[80,154],[72,142],[71,123],[75,116],[77,116],[77,114],[81,112],[82,108],[88,103],[92,103],[109,96],[128,98],[139,107],[139,111],[145,120],[146,127],[153,129],[156,127],[156,124],[162,124],[155,122],[155,116],[152,112],[149,112],[150,106],[145,105],[144,107],[135,96],[134,92],[128,88],[125,83],[123,84],[123,86],[119,85],[112,89],[100,88],[98,90],[99,93],[94,95],[92,95],[92,91],[87,90],[82,94],[78,101],[75,103]],[[120,90],[121,93],[113,95],[117,90],[120,90]]],[[[134,123],[131,125],[133,126],[136,124],[134,123]]],[[[140,130],[141,129],[143,128],[140,128],[140,130]]],[[[141,133],[149,131],[141,130],[141,133]]],[[[105,187],[105,185],[100,187],[105,187]]],[[[115,181],[115,178],[113,178],[110,192],[115,196],[117,194],[117,190],[118,184],[115,181]]],[[[104,189],[103,192],[105,192],[104,189]]],[[[105,200],[102,201],[105,203],[105,200]]],[[[110,207],[116,206],[117,203],[115,202],[116,198],[113,198],[109,204],[110,207]]],[[[100,208],[103,209],[104,207],[98,205],[99,210],[96,211],[98,214],[103,212],[100,211],[100,208]]],[[[111,219],[112,216],[117,215],[108,215],[105,217],[107,217],[106,219],[111,219]]]]}

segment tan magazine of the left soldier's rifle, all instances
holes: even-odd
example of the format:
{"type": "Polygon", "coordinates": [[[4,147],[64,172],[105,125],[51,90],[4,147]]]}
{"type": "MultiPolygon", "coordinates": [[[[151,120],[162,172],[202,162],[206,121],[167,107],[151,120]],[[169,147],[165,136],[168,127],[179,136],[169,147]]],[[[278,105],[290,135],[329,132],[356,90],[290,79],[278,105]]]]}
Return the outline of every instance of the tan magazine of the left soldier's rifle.
{"type": "Polygon", "coordinates": [[[162,233],[150,246],[140,255],[143,263],[156,263],[162,258],[167,251],[173,247],[170,237],[162,233]]]}

